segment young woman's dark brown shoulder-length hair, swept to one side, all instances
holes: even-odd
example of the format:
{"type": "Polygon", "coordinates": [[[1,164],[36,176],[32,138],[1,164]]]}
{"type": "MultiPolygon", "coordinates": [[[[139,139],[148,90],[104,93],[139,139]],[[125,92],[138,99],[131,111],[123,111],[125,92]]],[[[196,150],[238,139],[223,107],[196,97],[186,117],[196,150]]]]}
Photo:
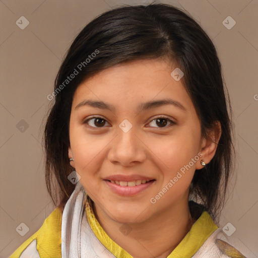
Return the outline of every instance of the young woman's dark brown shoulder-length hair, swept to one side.
{"type": "Polygon", "coordinates": [[[44,131],[48,192],[62,210],[75,188],[68,180],[73,171],[68,147],[71,106],[78,85],[115,64],[144,58],[169,58],[183,71],[181,80],[197,110],[202,136],[209,137],[215,122],[221,123],[216,154],[209,164],[196,171],[190,185],[191,195],[216,221],[225,203],[234,165],[228,92],[209,36],[190,15],[165,4],[123,6],[108,11],[91,21],[73,41],[55,79],[55,102],[44,131]],[[97,51],[89,61],[89,55],[97,51]],[[75,69],[79,74],[60,90],[75,69]]]}

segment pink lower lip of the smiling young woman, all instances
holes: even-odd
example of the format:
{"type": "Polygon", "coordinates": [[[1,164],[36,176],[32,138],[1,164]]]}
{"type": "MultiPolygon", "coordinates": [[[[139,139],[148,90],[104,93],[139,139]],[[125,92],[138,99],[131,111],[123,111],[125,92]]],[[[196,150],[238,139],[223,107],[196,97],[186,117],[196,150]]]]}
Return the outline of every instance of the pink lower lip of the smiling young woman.
{"type": "Polygon", "coordinates": [[[108,180],[104,180],[104,181],[113,192],[118,193],[118,195],[121,195],[121,196],[135,196],[138,193],[149,188],[155,182],[155,180],[151,180],[147,183],[142,183],[136,186],[121,186],[116,183],[111,183],[108,180]]]}

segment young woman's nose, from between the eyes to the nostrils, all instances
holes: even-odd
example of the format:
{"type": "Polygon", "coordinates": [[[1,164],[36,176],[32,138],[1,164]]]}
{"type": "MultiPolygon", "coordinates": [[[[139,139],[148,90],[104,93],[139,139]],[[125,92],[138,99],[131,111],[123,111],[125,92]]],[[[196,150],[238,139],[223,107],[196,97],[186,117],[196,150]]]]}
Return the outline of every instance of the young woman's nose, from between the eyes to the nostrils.
{"type": "Polygon", "coordinates": [[[127,133],[120,128],[118,134],[110,143],[111,148],[108,153],[108,159],[114,164],[131,167],[136,163],[142,163],[146,160],[146,149],[141,138],[136,134],[133,128],[127,133]]]}

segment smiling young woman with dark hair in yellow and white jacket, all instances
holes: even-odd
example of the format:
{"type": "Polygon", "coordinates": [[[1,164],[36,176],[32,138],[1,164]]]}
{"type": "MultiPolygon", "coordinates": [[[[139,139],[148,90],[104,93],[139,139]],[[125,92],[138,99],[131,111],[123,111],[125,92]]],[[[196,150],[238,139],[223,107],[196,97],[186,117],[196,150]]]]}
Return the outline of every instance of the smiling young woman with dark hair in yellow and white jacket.
{"type": "Polygon", "coordinates": [[[225,89],[212,41],[172,6],[90,22],[47,96],[57,208],[10,257],[246,257],[216,225],[234,167],[225,89]]]}

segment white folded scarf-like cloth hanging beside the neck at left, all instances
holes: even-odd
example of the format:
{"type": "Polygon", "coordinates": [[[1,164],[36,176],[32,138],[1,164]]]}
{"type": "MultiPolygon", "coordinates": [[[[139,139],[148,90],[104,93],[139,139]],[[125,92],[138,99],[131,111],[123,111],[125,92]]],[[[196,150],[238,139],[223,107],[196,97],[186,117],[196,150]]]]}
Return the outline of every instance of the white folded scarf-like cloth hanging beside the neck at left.
{"type": "Polygon", "coordinates": [[[85,189],[78,181],[62,214],[62,258],[115,258],[95,236],[86,212],[82,216],[85,198],[85,189]]]}

